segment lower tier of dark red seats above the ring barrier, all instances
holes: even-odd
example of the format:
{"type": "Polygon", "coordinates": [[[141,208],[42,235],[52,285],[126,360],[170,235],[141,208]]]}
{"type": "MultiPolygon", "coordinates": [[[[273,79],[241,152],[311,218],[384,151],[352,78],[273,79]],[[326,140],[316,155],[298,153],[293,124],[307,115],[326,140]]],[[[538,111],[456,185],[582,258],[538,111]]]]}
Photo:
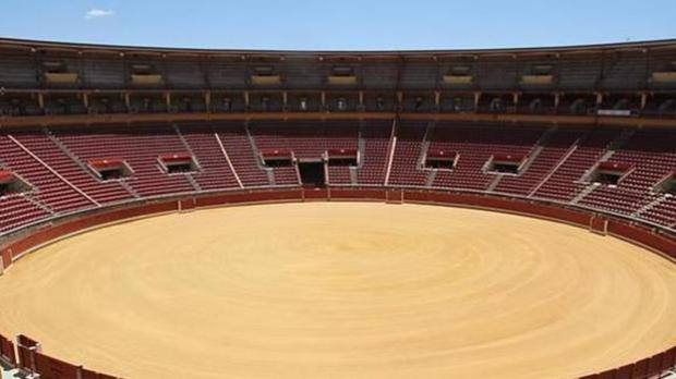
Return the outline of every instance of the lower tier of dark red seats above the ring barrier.
{"type": "Polygon", "coordinates": [[[329,149],[360,152],[357,175],[348,167],[329,167],[334,185],[431,186],[493,191],[619,212],[674,225],[676,200],[654,192],[676,168],[676,135],[641,130],[633,135],[608,127],[509,126],[440,122],[262,121],[245,124],[112,125],[55,127],[0,134],[0,169],[14,172],[32,188],[0,197],[0,232],[79,209],[149,196],[269,185],[299,185],[294,166],[268,172],[258,151],[291,149],[316,159],[329,149]],[[396,135],[394,143],[393,132],[396,135]],[[452,170],[423,168],[425,149],[457,152],[452,170]],[[389,155],[394,151],[391,160],[389,155]],[[196,170],[167,174],[158,159],[188,152],[196,170]],[[485,172],[494,155],[527,157],[514,176],[485,172]],[[124,160],[129,178],[101,181],[86,162],[124,160]],[[600,160],[631,164],[617,186],[590,185],[586,174],[600,160]],[[354,183],[355,182],[355,183],[354,183]]]}

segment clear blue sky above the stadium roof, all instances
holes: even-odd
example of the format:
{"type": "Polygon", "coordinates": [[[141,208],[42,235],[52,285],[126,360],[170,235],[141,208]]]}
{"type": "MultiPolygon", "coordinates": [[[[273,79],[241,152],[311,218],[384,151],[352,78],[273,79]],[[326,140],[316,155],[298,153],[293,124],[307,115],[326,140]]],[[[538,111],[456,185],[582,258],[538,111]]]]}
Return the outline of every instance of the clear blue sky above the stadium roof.
{"type": "Polygon", "coordinates": [[[1,0],[0,3],[2,37],[112,45],[410,50],[676,38],[675,0],[1,0]]]}

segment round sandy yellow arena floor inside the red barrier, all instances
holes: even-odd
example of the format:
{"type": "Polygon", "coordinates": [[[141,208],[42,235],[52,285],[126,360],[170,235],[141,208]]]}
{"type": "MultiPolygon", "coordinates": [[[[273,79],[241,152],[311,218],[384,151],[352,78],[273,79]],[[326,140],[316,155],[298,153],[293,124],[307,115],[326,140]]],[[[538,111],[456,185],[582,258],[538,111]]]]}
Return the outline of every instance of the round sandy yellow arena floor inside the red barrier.
{"type": "Polygon", "coordinates": [[[676,343],[676,265],[493,212],[221,208],[86,233],[0,277],[0,330],[124,378],[570,378],[676,343]]]}

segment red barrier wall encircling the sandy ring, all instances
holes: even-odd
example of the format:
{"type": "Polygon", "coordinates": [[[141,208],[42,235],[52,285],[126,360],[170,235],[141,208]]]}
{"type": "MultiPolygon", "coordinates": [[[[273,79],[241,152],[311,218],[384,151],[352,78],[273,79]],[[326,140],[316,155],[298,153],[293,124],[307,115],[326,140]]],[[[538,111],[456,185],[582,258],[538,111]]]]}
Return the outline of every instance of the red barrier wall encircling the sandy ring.
{"type": "MultiPolygon", "coordinates": [[[[550,205],[523,199],[494,197],[480,194],[467,193],[446,193],[431,191],[409,191],[409,190],[384,190],[384,188],[329,188],[329,190],[279,190],[279,191],[250,191],[225,193],[216,195],[205,195],[190,197],[179,200],[165,200],[160,203],[129,206],[117,209],[102,209],[98,212],[84,215],[76,219],[71,219],[62,223],[49,225],[35,231],[34,233],[15,241],[2,248],[3,257],[15,258],[23,252],[40,244],[47,243],[63,235],[68,235],[81,230],[101,225],[105,223],[132,219],[141,216],[148,216],[166,211],[181,209],[192,209],[208,206],[248,204],[248,203],[270,203],[270,201],[300,201],[305,199],[358,199],[358,200],[384,200],[389,203],[423,203],[452,206],[467,206],[508,212],[528,215],[532,217],[546,218],[590,228],[593,231],[604,231],[607,221],[607,232],[623,239],[651,247],[676,259],[676,240],[667,235],[659,234],[653,230],[641,225],[631,224],[624,220],[609,219],[605,216],[595,216],[590,212],[565,208],[557,205],[550,205]]],[[[9,261],[9,259],[7,259],[9,261]]],[[[5,266],[9,266],[5,264],[5,266]]],[[[0,349],[2,347],[0,339],[0,349]]],[[[11,343],[11,342],[10,342],[11,343]]],[[[26,346],[32,346],[36,342],[20,337],[17,346],[19,365],[27,369],[32,368],[35,362],[36,368],[44,370],[44,378],[71,378],[70,375],[80,371],[82,378],[92,379],[114,379],[107,375],[97,374],[92,370],[82,369],[71,364],[51,358],[41,353],[33,352],[26,346]],[[51,375],[51,376],[50,376],[51,375]],[[60,375],[60,376],[59,376],[60,375]]],[[[2,350],[0,350],[2,352],[2,350]]],[[[13,349],[12,349],[13,352],[13,349]]],[[[16,360],[16,359],[14,359],[16,360]]],[[[676,347],[656,354],[650,358],[623,366],[620,368],[607,370],[600,374],[587,376],[584,378],[607,378],[607,379],[644,379],[649,376],[659,374],[676,365],[676,347]]]]}

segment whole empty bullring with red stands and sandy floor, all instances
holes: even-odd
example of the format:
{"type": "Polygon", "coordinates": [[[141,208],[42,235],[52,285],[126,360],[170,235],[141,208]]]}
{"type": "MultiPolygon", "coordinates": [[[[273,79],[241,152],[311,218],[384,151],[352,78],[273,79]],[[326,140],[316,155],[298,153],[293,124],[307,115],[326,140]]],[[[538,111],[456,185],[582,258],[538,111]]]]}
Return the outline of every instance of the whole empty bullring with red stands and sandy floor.
{"type": "Polygon", "coordinates": [[[676,376],[674,40],[0,52],[3,379],[676,376]]]}

